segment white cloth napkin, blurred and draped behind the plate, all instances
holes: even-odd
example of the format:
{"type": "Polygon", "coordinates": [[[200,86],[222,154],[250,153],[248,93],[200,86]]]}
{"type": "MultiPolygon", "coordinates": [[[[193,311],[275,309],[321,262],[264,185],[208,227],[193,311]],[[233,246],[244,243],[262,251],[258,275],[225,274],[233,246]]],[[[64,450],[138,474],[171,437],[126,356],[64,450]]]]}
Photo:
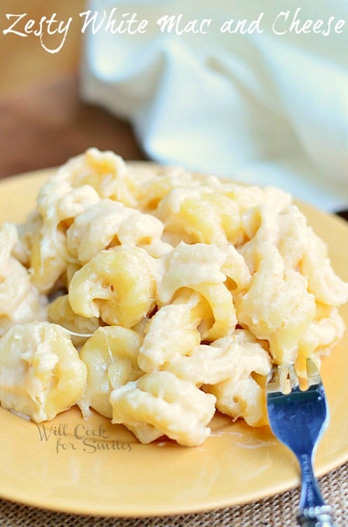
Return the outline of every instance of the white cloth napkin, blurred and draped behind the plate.
{"type": "MultiPolygon", "coordinates": [[[[327,210],[348,208],[347,0],[90,0],[149,20],[143,34],[86,32],[81,94],[129,119],[150,158],[260,185],[327,210]],[[330,34],[295,34],[323,20],[330,34]],[[281,11],[290,11],[288,22],[281,11]],[[222,34],[262,15],[262,33],[222,34]],[[206,34],[161,33],[156,21],[211,19],[206,34]],[[342,32],[334,25],[344,20],[342,32]]],[[[115,145],[117,150],[117,145],[115,145]]]]}

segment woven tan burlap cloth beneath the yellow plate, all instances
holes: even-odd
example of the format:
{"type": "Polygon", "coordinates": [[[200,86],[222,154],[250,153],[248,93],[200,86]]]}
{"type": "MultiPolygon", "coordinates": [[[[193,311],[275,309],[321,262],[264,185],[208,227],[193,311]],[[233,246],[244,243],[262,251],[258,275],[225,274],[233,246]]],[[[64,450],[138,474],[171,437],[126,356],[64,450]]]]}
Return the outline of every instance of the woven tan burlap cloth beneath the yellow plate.
{"type": "MultiPolygon", "coordinates": [[[[348,526],[348,463],[320,480],[324,499],[333,505],[337,527],[348,526]]],[[[62,514],[0,500],[0,526],[18,527],[293,527],[299,490],[267,500],[205,514],[156,518],[98,518],[62,514]]]]}

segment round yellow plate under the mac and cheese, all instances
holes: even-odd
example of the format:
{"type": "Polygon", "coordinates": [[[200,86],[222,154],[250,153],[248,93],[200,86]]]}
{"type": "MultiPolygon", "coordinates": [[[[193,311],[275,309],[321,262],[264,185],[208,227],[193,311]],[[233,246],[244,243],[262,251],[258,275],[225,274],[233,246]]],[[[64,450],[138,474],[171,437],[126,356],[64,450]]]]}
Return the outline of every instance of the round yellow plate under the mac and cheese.
{"type": "MultiPolygon", "coordinates": [[[[22,221],[48,171],[0,183],[1,221],[22,221]]],[[[348,225],[301,205],[328,242],[335,271],[348,280],[348,225]]],[[[342,309],[348,325],[348,306],[342,309]]],[[[323,360],[331,420],[316,454],[316,474],[348,460],[348,334],[323,360]]],[[[138,444],[132,434],[79,410],[40,427],[0,409],[0,495],[58,511],[105,516],[201,512],[259,500],[297,486],[293,455],[269,429],[251,429],[227,417],[196,448],[173,442],[138,444]]]]}

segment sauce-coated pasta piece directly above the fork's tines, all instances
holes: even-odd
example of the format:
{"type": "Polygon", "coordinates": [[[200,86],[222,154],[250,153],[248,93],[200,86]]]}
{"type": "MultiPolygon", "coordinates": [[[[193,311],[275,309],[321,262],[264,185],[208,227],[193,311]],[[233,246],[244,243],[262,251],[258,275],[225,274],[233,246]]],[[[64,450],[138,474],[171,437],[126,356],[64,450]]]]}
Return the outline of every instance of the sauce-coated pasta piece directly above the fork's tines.
{"type": "Polygon", "coordinates": [[[276,364],[287,367],[297,355],[297,346],[314,320],[314,295],[297,271],[284,270],[278,249],[264,242],[259,264],[248,292],[236,304],[239,323],[257,339],[268,340],[276,364]]]}

